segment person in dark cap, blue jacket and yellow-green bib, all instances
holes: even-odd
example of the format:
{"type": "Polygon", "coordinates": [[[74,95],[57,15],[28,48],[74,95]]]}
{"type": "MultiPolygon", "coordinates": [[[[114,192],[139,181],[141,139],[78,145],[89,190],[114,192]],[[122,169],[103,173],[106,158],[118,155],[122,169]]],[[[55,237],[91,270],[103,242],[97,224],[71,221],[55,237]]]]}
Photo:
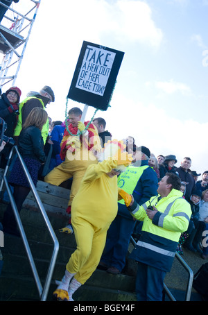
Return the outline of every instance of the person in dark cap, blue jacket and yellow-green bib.
{"type": "MultiPolygon", "coordinates": [[[[139,205],[157,194],[157,174],[148,166],[150,151],[146,146],[137,148],[136,162],[130,165],[118,178],[118,186],[132,194],[139,205]]],[[[125,266],[130,237],[135,228],[135,220],[126,211],[124,201],[119,201],[116,218],[107,232],[105,250],[99,266],[107,272],[121,273],[125,266]]]]}

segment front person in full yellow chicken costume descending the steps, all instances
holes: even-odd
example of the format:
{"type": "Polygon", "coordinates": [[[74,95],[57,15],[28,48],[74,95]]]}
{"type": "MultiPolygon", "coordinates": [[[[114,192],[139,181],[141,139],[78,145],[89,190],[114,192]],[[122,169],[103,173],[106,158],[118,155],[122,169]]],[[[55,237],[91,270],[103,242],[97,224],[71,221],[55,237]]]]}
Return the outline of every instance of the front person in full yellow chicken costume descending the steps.
{"type": "Polygon", "coordinates": [[[74,291],[94,273],[103,253],[107,230],[118,211],[118,199],[131,201],[131,196],[117,186],[116,175],[132,162],[132,155],[122,152],[123,148],[123,142],[107,142],[102,162],[89,165],[73,198],[71,223],[77,248],[53,292],[55,300],[73,300],[74,291]]]}

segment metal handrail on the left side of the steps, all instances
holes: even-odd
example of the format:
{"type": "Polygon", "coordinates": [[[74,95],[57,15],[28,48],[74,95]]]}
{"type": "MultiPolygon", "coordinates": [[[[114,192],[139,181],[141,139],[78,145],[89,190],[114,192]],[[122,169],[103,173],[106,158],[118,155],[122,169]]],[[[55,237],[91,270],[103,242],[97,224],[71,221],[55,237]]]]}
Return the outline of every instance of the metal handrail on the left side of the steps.
{"type": "Polygon", "coordinates": [[[35,278],[35,283],[36,283],[36,286],[37,286],[37,290],[38,290],[38,293],[39,293],[39,296],[40,296],[40,300],[42,301],[45,301],[46,298],[47,298],[47,295],[49,293],[49,287],[50,287],[50,284],[51,284],[51,278],[52,278],[52,275],[53,275],[53,270],[54,270],[54,267],[55,267],[55,262],[56,262],[56,259],[57,259],[57,255],[58,255],[58,250],[59,250],[59,243],[58,243],[58,239],[55,235],[55,232],[53,231],[53,228],[51,226],[51,222],[49,221],[49,218],[46,214],[46,211],[44,210],[44,207],[42,205],[42,201],[40,200],[40,197],[39,195],[37,194],[37,190],[35,188],[35,185],[33,183],[33,180],[31,178],[31,175],[30,173],[28,172],[28,169],[26,167],[26,164],[24,162],[24,160],[22,159],[19,151],[18,151],[18,148],[17,146],[13,146],[12,147],[12,150],[10,151],[10,156],[9,156],[9,160],[8,160],[8,164],[6,166],[6,169],[5,169],[5,172],[3,174],[3,180],[1,182],[1,190],[2,190],[2,187],[3,187],[3,182],[5,183],[6,185],[6,189],[8,191],[8,196],[10,198],[10,202],[11,202],[11,206],[12,206],[12,209],[14,211],[14,214],[15,214],[15,219],[17,221],[17,225],[19,227],[19,231],[20,231],[20,234],[21,234],[21,238],[24,242],[24,247],[26,249],[26,254],[28,256],[28,260],[31,264],[31,269],[33,271],[33,276],[35,278]],[[35,262],[34,262],[34,259],[33,259],[33,255],[31,253],[31,249],[28,245],[28,240],[26,238],[26,234],[24,232],[24,228],[23,228],[23,225],[21,223],[21,219],[20,219],[20,216],[19,216],[19,212],[17,210],[17,206],[15,204],[15,200],[12,196],[12,193],[10,191],[10,186],[8,184],[8,180],[6,178],[6,175],[8,173],[8,169],[9,169],[9,164],[10,164],[10,161],[12,160],[12,155],[14,153],[14,151],[16,151],[17,153],[17,157],[19,157],[19,160],[21,162],[21,166],[23,167],[24,169],[24,173],[26,175],[26,178],[28,180],[28,183],[31,187],[31,191],[33,192],[33,196],[35,198],[35,201],[37,202],[37,205],[40,209],[40,212],[42,213],[42,216],[44,218],[44,221],[46,223],[46,226],[50,232],[50,235],[51,235],[51,238],[53,239],[53,244],[54,244],[54,247],[53,247],[53,255],[51,257],[51,262],[49,264],[49,269],[48,269],[48,273],[46,275],[46,281],[45,281],[45,284],[44,284],[44,287],[42,287],[42,283],[40,282],[40,278],[39,278],[39,275],[37,273],[37,269],[36,269],[36,266],[35,266],[35,262]]]}

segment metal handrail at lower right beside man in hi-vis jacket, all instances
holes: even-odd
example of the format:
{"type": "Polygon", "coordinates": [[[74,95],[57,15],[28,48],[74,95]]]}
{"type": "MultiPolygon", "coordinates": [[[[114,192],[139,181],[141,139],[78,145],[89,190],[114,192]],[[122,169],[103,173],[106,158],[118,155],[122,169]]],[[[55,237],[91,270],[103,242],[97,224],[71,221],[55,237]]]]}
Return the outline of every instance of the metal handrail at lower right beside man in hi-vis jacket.
{"type": "MultiPolygon", "coordinates": [[[[137,245],[137,242],[135,241],[135,239],[133,237],[131,237],[131,242],[132,244],[135,246],[137,245]]],[[[189,281],[187,284],[187,293],[186,293],[186,299],[185,301],[190,301],[191,299],[191,288],[192,288],[192,284],[193,284],[193,271],[192,269],[189,267],[189,265],[184,261],[184,259],[180,256],[179,253],[175,253],[175,257],[178,259],[178,261],[180,262],[180,264],[182,264],[182,266],[184,266],[184,269],[186,269],[189,273],[189,281]]],[[[168,287],[166,287],[166,284],[164,284],[164,290],[166,291],[167,296],[172,300],[172,301],[176,301],[176,299],[174,298],[173,294],[171,293],[171,291],[168,289],[168,287]]]]}

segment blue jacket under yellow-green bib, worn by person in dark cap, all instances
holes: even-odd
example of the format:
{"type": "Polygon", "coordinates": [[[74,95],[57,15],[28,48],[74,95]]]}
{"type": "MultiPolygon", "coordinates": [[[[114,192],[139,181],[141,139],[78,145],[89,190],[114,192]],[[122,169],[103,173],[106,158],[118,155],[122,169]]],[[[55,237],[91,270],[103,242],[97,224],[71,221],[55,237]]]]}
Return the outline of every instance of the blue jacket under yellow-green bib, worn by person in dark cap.
{"type": "MultiPolygon", "coordinates": [[[[148,160],[142,160],[141,166],[148,165],[148,160]]],[[[158,180],[157,173],[148,167],[144,170],[141,177],[139,178],[135,190],[133,191],[133,197],[139,205],[146,203],[152,196],[157,195],[158,180]]],[[[132,215],[127,211],[126,205],[118,203],[119,209],[118,214],[125,216],[129,220],[133,220],[132,215]]]]}

